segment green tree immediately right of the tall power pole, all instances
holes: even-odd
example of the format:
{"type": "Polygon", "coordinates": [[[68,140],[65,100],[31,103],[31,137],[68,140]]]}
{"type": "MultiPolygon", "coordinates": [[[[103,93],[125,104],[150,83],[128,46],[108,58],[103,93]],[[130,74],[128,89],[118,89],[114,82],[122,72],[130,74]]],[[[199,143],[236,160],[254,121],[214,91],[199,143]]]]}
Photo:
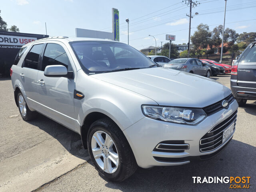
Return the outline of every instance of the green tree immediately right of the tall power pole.
{"type": "Polygon", "coordinates": [[[194,32],[194,35],[191,36],[191,42],[195,49],[206,49],[210,44],[211,36],[212,33],[209,30],[209,26],[201,23],[197,26],[197,30],[194,32]]]}

